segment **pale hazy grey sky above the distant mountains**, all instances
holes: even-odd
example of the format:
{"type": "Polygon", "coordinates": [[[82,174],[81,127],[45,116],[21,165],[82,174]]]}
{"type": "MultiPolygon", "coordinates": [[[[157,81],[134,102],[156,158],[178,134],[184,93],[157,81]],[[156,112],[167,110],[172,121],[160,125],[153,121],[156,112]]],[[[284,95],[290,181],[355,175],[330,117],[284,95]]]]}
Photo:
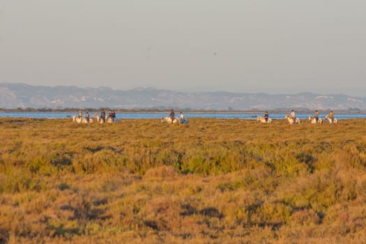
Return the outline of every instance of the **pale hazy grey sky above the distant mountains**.
{"type": "Polygon", "coordinates": [[[366,96],[365,0],[1,0],[0,82],[366,96]]]}

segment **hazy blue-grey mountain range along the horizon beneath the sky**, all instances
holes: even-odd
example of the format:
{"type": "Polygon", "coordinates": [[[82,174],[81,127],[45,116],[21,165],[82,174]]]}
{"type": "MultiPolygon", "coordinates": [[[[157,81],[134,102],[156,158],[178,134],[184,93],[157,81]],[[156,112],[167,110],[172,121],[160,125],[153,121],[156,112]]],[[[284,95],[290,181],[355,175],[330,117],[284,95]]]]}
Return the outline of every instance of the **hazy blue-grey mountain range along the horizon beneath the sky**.
{"type": "Polygon", "coordinates": [[[113,90],[109,87],[31,86],[0,83],[0,108],[100,108],[284,111],[365,111],[366,98],[342,94],[268,94],[232,92],[178,92],[154,88],[113,90]]]}

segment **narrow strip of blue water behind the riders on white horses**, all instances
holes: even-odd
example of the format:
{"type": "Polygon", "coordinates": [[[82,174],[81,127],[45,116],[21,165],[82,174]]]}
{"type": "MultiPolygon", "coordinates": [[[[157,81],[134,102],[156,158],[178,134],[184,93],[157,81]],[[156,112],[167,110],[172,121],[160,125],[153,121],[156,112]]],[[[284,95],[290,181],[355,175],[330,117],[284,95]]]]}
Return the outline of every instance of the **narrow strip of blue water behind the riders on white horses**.
{"type": "MultiPolygon", "coordinates": [[[[93,112],[90,113],[93,116],[93,112]]],[[[272,119],[284,119],[285,114],[289,113],[272,113],[269,114],[272,119]]],[[[0,117],[25,117],[25,118],[45,118],[45,119],[64,119],[70,116],[77,116],[77,112],[0,112],[0,117]]],[[[296,113],[296,116],[300,119],[308,119],[310,115],[314,113],[296,113]]],[[[116,117],[119,119],[160,119],[162,117],[169,116],[168,112],[159,113],[116,113],[116,117]]],[[[176,116],[179,116],[176,113],[176,116]]],[[[236,112],[236,113],[225,113],[225,112],[207,112],[207,113],[184,113],[185,118],[217,118],[217,119],[257,119],[257,116],[264,116],[264,113],[255,112],[236,112]]],[[[319,118],[324,118],[326,114],[319,113],[319,118]]],[[[337,119],[366,119],[366,113],[342,113],[334,114],[337,119]]]]}

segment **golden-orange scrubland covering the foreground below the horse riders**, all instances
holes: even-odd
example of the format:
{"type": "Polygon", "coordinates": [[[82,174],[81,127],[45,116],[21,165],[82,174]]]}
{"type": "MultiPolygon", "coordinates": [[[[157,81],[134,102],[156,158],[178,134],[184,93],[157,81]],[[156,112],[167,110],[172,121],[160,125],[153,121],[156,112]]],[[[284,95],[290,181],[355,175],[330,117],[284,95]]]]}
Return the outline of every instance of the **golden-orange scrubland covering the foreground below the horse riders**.
{"type": "Polygon", "coordinates": [[[0,243],[363,243],[366,120],[0,119],[0,243]]]}

